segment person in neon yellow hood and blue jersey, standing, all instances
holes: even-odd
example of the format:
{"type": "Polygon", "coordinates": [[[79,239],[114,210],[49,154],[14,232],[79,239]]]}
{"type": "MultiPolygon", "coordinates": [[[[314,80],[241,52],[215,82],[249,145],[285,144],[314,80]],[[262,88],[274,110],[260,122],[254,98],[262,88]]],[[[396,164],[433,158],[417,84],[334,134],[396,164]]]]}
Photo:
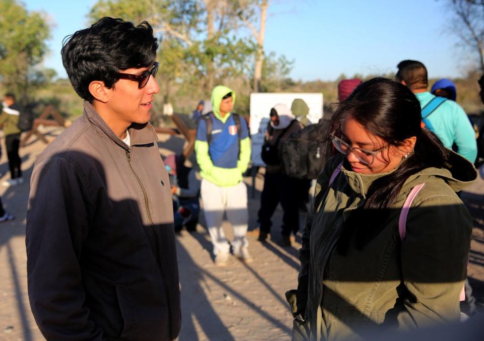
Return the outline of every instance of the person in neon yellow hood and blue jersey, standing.
{"type": "Polygon", "coordinates": [[[205,221],[212,238],[213,253],[217,265],[228,261],[230,244],[223,230],[223,213],[232,224],[233,254],[252,261],[247,241],[247,186],[242,181],[251,158],[249,131],[241,116],[239,124],[231,113],[235,103],[235,92],[225,86],[216,86],[212,91],[213,112],[207,117],[211,121],[210,138],[206,119],[197,127],[195,153],[202,177],[201,197],[205,221]],[[240,129],[240,131],[238,131],[240,129]]]}

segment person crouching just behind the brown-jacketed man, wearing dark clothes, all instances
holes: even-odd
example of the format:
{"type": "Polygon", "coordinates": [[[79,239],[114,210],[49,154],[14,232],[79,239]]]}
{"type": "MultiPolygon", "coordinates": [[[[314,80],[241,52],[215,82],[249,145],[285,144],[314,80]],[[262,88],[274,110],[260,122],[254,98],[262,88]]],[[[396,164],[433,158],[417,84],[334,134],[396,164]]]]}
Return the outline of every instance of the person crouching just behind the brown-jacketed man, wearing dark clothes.
{"type": "Polygon", "coordinates": [[[164,163],[170,176],[175,232],[179,233],[184,226],[194,232],[200,213],[200,175],[194,168],[185,166],[183,155],[168,155],[164,163]]]}

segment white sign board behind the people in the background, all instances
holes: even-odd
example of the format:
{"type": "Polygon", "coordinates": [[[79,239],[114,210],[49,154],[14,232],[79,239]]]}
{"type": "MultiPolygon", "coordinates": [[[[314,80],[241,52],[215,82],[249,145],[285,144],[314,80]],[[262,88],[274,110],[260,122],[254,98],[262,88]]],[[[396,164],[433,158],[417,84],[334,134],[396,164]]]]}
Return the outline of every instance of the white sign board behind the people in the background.
{"type": "Polygon", "coordinates": [[[317,123],[323,117],[323,94],[309,93],[252,93],[251,94],[251,139],[252,163],[254,166],[265,166],[261,158],[264,132],[270,120],[269,113],[276,104],[285,104],[290,109],[292,101],[300,98],[309,107],[308,119],[317,123]]]}

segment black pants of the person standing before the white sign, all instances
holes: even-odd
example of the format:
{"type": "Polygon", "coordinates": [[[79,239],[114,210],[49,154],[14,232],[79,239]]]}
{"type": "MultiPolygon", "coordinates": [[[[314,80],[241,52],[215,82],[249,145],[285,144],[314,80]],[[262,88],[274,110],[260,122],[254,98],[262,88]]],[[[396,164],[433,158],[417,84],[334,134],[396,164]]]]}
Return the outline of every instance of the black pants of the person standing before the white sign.
{"type": "Polygon", "coordinates": [[[266,173],[264,189],[261,194],[261,208],[258,217],[261,232],[270,233],[271,218],[280,202],[284,211],[282,217],[282,235],[290,236],[299,231],[298,191],[299,180],[281,173],[266,173]]]}

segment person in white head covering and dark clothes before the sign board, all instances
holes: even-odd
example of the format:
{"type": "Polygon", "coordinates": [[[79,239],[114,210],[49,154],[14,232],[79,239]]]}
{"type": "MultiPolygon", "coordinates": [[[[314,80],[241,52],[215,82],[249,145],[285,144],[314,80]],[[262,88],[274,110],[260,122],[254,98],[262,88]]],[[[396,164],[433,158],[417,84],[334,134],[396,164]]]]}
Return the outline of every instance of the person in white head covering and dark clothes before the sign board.
{"type": "MultiPolygon", "coordinates": [[[[267,126],[264,145],[270,144],[279,154],[279,146],[289,135],[303,128],[285,104],[276,104],[270,112],[271,120],[267,126]]],[[[259,241],[265,242],[271,231],[271,218],[280,203],[282,216],[282,246],[291,246],[291,233],[299,231],[299,213],[295,199],[299,195],[300,180],[284,174],[280,161],[266,164],[264,188],[261,194],[261,207],[258,212],[260,232],[259,241]]],[[[306,191],[306,196],[308,190],[306,191]]]]}

